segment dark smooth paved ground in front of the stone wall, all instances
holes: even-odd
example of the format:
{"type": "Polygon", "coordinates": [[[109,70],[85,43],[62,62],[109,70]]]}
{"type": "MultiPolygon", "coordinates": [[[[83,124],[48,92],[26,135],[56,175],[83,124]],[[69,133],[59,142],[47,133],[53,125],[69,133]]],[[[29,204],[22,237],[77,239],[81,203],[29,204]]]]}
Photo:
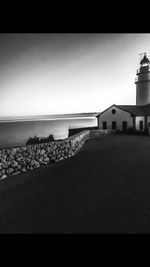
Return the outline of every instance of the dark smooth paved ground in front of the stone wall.
{"type": "Polygon", "coordinates": [[[0,181],[0,233],[150,233],[150,137],[90,140],[0,181]]]}

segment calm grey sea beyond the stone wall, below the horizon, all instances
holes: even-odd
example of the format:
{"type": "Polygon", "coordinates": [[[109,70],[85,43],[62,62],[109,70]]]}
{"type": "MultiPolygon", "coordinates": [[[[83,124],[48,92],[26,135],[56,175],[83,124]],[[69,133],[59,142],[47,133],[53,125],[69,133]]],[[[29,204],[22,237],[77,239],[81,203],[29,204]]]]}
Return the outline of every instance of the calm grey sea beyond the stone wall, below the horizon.
{"type": "Polygon", "coordinates": [[[95,116],[0,120],[0,148],[25,145],[30,137],[68,137],[69,128],[97,126],[95,116]]]}

